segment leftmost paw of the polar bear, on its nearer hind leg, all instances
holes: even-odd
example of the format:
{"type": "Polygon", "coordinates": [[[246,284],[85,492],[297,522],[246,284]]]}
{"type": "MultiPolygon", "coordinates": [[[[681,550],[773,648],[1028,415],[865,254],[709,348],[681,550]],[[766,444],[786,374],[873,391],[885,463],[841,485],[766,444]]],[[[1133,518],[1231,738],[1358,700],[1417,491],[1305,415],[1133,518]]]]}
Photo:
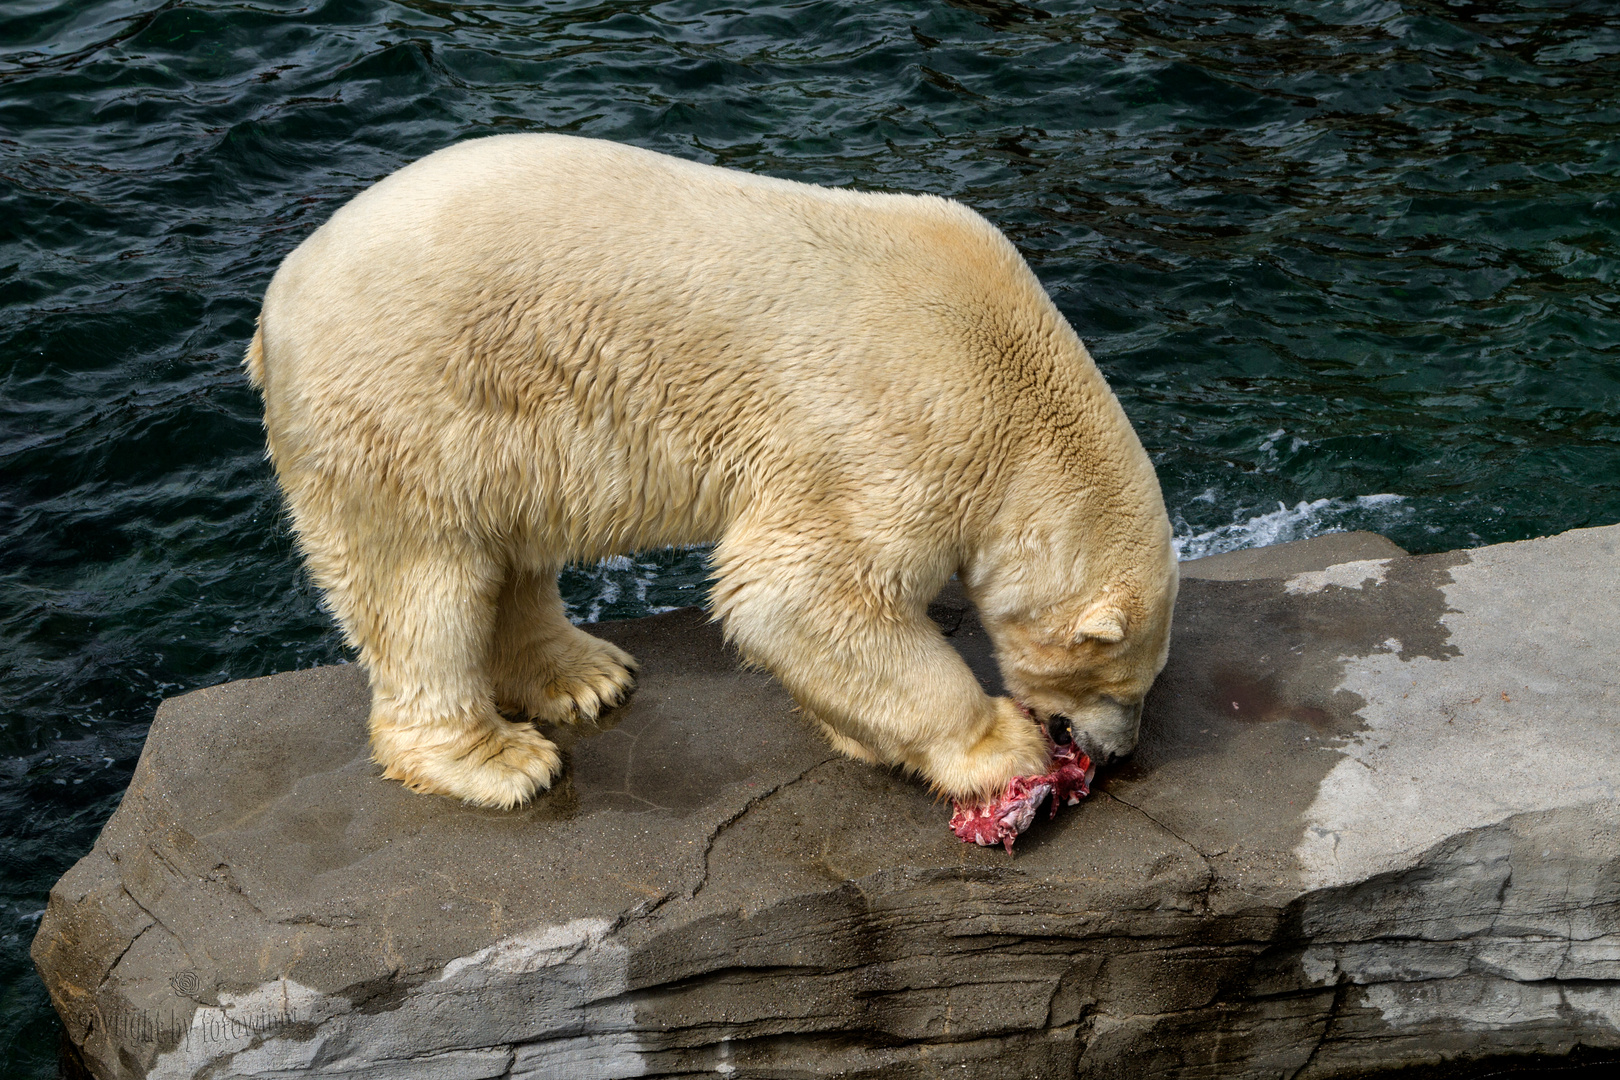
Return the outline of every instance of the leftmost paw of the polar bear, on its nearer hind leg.
{"type": "Polygon", "coordinates": [[[413,792],[449,795],[491,810],[526,803],[562,771],[554,742],[528,724],[499,717],[454,733],[376,730],[371,745],[387,779],[413,792]]]}

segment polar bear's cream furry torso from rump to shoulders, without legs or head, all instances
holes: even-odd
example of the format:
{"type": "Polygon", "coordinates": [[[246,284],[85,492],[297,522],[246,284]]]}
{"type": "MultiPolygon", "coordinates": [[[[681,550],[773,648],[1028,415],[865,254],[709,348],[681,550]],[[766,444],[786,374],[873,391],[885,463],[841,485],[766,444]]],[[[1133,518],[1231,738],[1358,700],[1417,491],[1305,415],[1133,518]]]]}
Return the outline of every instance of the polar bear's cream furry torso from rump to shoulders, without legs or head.
{"type": "Polygon", "coordinates": [[[290,494],[303,476],[405,491],[434,520],[549,520],[575,557],[713,539],[765,473],[922,499],[1076,410],[1140,457],[972,210],[593,139],[475,139],[399,170],[287,257],[261,327],[290,494]]]}

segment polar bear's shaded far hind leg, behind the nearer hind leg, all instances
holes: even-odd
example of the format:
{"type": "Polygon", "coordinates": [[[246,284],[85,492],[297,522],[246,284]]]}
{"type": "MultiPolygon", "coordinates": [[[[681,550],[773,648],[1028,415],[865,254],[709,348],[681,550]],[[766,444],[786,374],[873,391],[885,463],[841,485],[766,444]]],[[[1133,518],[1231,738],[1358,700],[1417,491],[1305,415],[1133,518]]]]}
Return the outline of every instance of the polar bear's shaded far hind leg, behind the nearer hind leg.
{"type": "Polygon", "coordinates": [[[496,704],[551,724],[596,719],[635,687],[635,659],[562,614],[556,570],[512,568],[496,606],[496,704]]]}

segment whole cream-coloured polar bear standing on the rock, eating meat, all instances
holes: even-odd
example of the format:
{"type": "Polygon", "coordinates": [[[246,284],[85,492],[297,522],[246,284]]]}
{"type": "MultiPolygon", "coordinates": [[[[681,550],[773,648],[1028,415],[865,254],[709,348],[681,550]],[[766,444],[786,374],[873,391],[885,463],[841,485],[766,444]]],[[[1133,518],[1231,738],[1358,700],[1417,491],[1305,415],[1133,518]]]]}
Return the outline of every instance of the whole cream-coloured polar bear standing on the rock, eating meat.
{"type": "Polygon", "coordinates": [[[637,667],[557,570],[674,544],[714,544],[714,617],[847,755],[987,798],[1047,769],[1030,714],[1136,745],[1178,581],[1158,479],[964,206],[473,139],[288,254],[246,366],[374,758],[418,792],[548,787],[528,721],[595,717],[637,667]],[[925,615],[953,573],[1008,698],[925,615]]]}

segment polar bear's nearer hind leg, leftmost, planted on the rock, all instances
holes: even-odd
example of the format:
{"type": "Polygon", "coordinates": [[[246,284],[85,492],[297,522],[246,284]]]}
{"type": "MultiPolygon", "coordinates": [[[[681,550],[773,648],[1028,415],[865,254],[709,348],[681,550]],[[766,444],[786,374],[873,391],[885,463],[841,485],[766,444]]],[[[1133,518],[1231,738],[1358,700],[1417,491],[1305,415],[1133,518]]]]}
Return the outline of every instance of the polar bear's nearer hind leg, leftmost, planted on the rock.
{"type": "Polygon", "coordinates": [[[348,552],[347,573],[326,585],[371,677],[382,776],[502,810],[551,787],[562,767],[556,743],[502,719],[489,687],[499,572],[471,542],[376,547],[348,552]]]}

